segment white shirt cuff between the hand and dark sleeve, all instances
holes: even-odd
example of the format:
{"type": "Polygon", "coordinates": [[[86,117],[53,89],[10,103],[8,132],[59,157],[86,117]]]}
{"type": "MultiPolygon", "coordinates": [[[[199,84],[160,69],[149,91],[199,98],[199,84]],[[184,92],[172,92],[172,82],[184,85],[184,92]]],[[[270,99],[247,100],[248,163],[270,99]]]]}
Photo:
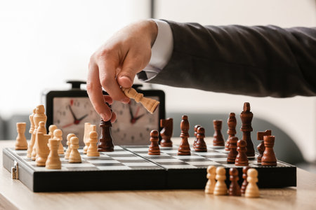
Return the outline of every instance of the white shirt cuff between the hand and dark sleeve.
{"type": "MultiPolygon", "coordinates": [[[[154,20],[154,19],[152,19],[154,20]]],[[[143,81],[150,80],[164,69],[168,64],[173,51],[173,36],[169,24],[162,20],[154,20],[158,27],[157,38],[152,45],[152,57],[149,64],[143,69],[147,78],[138,78],[143,81]]]]}

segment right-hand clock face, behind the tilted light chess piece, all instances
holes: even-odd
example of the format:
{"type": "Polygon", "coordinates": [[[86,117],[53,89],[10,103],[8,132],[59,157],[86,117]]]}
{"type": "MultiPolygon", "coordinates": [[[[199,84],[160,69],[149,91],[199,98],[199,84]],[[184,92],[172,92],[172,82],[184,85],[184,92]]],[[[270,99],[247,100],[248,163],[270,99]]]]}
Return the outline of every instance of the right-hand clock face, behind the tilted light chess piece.
{"type": "MultiPolygon", "coordinates": [[[[159,97],[150,97],[159,100],[159,97]]],[[[150,132],[159,130],[159,109],[149,113],[142,104],[131,99],[129,104],[114,102],[117,120],[112,124],[114,144],[150,144],[150,132]]]]}

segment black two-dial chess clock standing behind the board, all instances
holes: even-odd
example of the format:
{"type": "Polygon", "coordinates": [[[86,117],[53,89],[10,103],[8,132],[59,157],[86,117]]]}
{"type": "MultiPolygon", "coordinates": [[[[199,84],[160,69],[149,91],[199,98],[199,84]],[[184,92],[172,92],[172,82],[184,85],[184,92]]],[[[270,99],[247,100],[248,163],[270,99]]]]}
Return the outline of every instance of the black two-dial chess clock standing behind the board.
{"type": "MultiPolygon", "coordinates": [[[[81,89],[83,81],[67,81],[72,85],[70,90],[51,90],[43,93],[42,101],[46,106],[48,130],[49,125],[56,125],[62,130],[63,144],[67,134],[74,133],[83,139],[84,123],[99,127],[100,116],[93,109],[86,90],[81,89]]],[[[162,90],[143,90],[143,85],[133,85],[137,92],[145,97],[156,99],[159,107],[150,114],[133,99],[129,104],[113,102],[112,110],[117,114],[117,120],[112,123],[112,138],[115,145],[149,144],[150,131],[161,130],[160,119],[165,118],[165,95],[162,90]]],[[[103,94],[107,94],[103,92],[103,94]]],[[[82,140],[81,146],[83,145],[82,140]]]]}

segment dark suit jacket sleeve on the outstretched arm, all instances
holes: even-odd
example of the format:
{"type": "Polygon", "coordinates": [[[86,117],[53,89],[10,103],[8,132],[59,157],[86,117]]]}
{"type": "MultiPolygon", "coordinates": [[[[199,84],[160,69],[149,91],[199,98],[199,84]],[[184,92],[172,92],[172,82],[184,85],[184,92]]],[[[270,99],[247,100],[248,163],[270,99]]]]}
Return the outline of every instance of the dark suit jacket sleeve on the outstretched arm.
{"type": "Polygon", "coordinates": [[[316,95],[316,28],[167,22],[173,53],[149,83],[256,97],[316,95]]]}

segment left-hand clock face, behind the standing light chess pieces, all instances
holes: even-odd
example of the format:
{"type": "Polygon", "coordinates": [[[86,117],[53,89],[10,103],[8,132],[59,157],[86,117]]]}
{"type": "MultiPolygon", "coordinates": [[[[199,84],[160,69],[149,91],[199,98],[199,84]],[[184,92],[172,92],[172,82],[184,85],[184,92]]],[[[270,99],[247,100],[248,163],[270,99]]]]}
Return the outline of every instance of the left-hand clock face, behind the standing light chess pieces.
{"type": "Polygon", "coordinates": [[[93,109],[88,97],[55,97],[53,99],[53,124],[62,130],[62,142],[67,134],[73,133],[81,140],[84,137],[84,123],[99,125],[100,116],[93,109]]]}

